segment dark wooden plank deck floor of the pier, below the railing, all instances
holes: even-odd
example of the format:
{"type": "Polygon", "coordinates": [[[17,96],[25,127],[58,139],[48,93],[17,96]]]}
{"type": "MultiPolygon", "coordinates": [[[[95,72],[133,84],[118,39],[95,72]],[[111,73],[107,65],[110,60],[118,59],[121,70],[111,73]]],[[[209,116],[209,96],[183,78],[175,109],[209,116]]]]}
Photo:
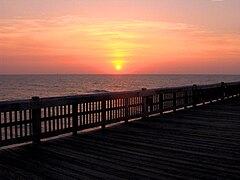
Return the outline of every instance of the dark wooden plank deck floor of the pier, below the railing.
{"type": "Polygon", "coordinates": [[[240,98],[0,150],[0,179],[240,179],[240,98]]]}

